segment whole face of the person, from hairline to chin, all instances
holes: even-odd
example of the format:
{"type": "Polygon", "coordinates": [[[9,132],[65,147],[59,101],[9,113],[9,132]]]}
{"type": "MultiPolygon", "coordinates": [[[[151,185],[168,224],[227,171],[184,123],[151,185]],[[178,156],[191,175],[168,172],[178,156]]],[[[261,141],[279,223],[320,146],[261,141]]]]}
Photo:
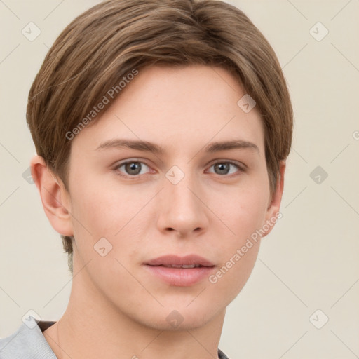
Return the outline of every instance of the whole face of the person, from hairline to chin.
{"type": "Polygon", "coordinates": [[[158,329],[175,310],[191,328],[241,291],[255,233],[278,211],[262,120],[243,95],[219,67],[142,69],[72,140],[74,273],[95,302],[158,329]]]}

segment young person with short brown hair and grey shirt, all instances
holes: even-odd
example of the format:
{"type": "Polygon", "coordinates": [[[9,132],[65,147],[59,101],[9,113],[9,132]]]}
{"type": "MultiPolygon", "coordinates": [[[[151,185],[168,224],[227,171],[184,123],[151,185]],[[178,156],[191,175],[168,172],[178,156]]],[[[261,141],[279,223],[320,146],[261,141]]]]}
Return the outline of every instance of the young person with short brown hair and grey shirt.
{"type": "Polygon", "coordinates": [[[238,8],[109,0],[79,15],[29,91],[32,177],[69,255],[60,320],[8,358],[227,358],[226,307],[280,218],[292,105],[238,8]]]}

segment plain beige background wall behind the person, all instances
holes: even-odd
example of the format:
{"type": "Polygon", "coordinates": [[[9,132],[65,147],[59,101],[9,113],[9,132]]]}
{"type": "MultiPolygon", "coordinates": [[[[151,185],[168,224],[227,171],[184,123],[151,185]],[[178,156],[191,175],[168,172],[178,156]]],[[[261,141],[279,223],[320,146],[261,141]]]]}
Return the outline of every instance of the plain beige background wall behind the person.
{"type": "MultiPolygon", "coordinates": [[[[0,1],[0,337],[30,309],[65,311],[71,277],[60,236],[22,174],[34,145],[29,87],[60,31],[95,0],[0,1]],[[22,29],[41,34],[29,41],[22,29]]],[[[230,1],[262,30],[290,86],[295,134],[283,219],[227,310],[220,348],[236,358],[359,358],[359,1],[230,1]],[[321,22],[329,31],[325,34],[321,22]],[[313,29],[310,32],[310,29],[313,29]],[[314,172],[327,172],[323,179],[314,172]],[[317,176],[317,177],[316,177],[317,176]],[[317,329],[312,322],[323,323],[317,329]],[[318,314],[318,316],[317,316],[318,314]]]]}

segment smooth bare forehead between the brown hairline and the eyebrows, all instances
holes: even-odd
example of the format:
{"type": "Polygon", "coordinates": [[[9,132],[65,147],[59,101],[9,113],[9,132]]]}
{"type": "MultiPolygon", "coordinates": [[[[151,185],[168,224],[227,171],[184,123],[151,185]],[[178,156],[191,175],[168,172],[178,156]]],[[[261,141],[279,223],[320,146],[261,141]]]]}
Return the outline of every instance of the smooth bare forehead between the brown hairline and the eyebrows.
{"type": "Polygon", "coordinates": [[[180,149],[237,139],[263,147],[259,113],[238,105],[245,92],[226,69],[191,65],[138,71],[100,118],[76,135],[74,147],[79,142],[98,147],[115,137],[180,149]]]}

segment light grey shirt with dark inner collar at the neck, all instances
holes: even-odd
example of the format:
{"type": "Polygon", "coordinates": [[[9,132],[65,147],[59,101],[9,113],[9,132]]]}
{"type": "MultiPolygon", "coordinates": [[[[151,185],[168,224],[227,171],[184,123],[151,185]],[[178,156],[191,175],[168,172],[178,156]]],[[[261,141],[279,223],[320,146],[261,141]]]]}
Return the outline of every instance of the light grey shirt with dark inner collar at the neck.
{"type": "MultiPolygon", "coordinates": [[[[0,338],[0,359],[57,359],[43,331],[56,322],[29,316],[9,337],[0,338]]],[[[229,359],[218,349],[219,359],[229,359]]]]}

